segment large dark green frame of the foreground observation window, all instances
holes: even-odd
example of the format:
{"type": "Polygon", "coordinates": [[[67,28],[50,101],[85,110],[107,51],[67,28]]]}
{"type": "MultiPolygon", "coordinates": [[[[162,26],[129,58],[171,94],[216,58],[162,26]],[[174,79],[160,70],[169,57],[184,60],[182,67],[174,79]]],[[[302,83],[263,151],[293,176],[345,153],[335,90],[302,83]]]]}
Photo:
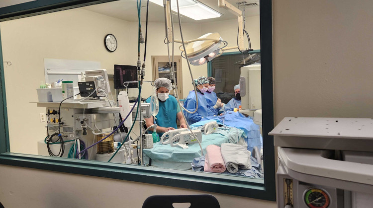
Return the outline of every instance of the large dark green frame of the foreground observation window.
{"type": "MultiPolygon", "coordinates": [[[[0,8],[0,22],[113,0],[36,0],[0,8]]],[[[264,180],[206,174],[159,167],[122,165],[61,157],[9,153],[9,135],[0,31],[0,164],[41,170],[106,177],[149,184],[166,185],[228,195],[276,201],[273,71],[272,71],[272,1],[260,2],[261,75],[263,109],[264,180]]]]}

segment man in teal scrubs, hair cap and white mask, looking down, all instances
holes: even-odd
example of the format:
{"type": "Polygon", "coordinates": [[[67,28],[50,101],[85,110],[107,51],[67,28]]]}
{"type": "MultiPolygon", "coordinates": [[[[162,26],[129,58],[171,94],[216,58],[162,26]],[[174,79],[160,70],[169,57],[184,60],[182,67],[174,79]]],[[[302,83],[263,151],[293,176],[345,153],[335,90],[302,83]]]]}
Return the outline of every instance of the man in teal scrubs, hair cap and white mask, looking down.
{"type": "MultiPolygon", "coordinates": [[[[157,97],[159,100],[159,111],[156,117],[157,133],[161,137],[165,132],[172,129],[177,129],[176,119],[180,122],[181,128],[187,128],[187,124],[183,117],[178,101],[174,96],[170,96],[171,80],[167,78],[159,78],[155,81],[154,88],[156,88],[157,97]]],[[[151,97],[146,99],[146,103],[150,103],[151,97]]],[[[153,125],[154,118],[145,118],[146,127],[153,125]]],[[[153,130],[153,129],[151,129],[153,130]]],[[[152,133],[150,131],[150,133],[152,133]]]]}

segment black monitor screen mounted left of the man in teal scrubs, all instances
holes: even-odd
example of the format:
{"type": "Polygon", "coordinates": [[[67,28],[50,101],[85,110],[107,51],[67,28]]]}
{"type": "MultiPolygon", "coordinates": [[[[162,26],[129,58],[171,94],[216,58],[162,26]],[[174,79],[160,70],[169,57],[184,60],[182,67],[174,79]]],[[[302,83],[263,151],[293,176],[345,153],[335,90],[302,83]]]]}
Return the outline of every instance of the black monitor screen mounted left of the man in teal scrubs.
{"type": "MultiPolygon", "coordinates": [[[[123,83],[137,81],[137,67],[114,65],[114,88],[125,89],[123,83]]],[[[129,83],[128,88],[137,88],[137,83],[129,83]]]]}

